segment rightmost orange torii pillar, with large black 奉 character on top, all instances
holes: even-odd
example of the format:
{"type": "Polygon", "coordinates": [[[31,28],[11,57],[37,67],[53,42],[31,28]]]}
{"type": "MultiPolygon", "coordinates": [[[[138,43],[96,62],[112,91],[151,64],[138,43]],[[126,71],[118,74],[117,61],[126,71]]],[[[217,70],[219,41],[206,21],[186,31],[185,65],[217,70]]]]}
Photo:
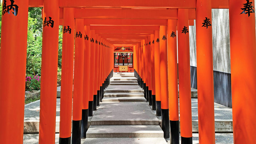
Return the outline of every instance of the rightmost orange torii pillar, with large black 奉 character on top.
{"type": "MultiPolygon", "coordinates": [[[[255,13],[242,13],[241,8],[245,8],[245,4],[245,0],[229,1],[231,93],[236,144],[255,143],[256,135],[255,13]]],[[[254,9],[254,1],[251,6],[254,9]]]]}

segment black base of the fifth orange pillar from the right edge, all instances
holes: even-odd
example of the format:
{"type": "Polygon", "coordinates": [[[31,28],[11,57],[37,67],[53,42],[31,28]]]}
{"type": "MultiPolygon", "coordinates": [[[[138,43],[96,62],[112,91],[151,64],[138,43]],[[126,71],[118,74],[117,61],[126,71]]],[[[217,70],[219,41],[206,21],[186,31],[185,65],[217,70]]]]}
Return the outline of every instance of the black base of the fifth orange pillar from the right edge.
{"type": "Polygon", "coordinates": [[[162,130],[163,130],[163,137],[169,138],[170,137],[170,126],[169,126],[169,109],[161,109],[162,114],[162,130]]]}

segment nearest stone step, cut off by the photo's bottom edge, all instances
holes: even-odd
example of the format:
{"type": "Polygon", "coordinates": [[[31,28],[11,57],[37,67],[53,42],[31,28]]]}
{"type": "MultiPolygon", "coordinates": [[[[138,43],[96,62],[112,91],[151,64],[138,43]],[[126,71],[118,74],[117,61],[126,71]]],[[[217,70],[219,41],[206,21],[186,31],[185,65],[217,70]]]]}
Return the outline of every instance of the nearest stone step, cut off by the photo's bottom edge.
{"type": "Polygon", "coordinates": [[[136,138],[86,138],[84,143],[89,144],[166,144],[164,138],[136,137],[136,138]]]}

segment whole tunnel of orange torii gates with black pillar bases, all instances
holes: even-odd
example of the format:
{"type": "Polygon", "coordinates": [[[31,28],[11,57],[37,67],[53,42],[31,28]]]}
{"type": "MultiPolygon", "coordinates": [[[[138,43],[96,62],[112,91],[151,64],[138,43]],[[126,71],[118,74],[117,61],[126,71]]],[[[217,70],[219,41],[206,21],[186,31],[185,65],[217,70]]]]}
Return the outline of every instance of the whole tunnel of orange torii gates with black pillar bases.
{"type": "Polygon", "coordinates": [[[157,110],[157,115],[162,116],[164,137],[171,137],[172,144],[179,143],[178,57],[181,143],[191,144],[189,25],[194,25],[194,19],[199,142],[214,144],[211,9],[229,9],[234,143],[255,143],[254,1],[3,0],[0,51],[2,144],[23,143],[29,7],[43,8],[39,144],[55,143],[59,25],[63,25],[59,143],[70,143],[71,132],[72,143],[79,143],[86,136],[88,115],[92,116],[96,110],[113,74],[114,46],[133,46],[135,76],[146,99],[157,110]],[[15,91],[13,83],[16,84],[15,91]]]}

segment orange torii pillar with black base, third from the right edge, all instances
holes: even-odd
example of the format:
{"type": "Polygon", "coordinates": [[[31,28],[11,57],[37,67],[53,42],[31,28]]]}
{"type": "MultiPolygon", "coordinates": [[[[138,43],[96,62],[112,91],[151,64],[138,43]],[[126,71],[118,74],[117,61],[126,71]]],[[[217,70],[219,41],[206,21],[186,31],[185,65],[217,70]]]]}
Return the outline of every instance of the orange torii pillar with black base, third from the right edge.
{"type": "Polygon", "coordinates": [[[192,144],[188,9],[178,10],[177,27],[181,143],[192,144]]]}

